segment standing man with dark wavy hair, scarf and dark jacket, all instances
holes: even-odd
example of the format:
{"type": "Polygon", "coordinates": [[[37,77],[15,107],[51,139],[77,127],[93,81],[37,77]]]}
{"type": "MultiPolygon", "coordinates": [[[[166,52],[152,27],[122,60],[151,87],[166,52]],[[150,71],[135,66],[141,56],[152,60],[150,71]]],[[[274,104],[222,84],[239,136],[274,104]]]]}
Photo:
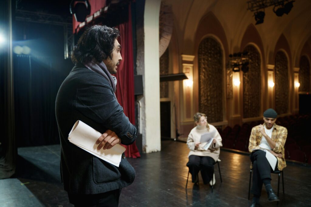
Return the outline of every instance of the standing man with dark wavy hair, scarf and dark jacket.
{"type": "Polygon", "coordinates": [[[75,206],[118,206],[121,188],[134,181],[135,171],[124,154],[119,167],[93,156],[68,141],[77,120],[103,133],[97,150],[132,144],[137,129],[123,113],[114,94],[121,45],[119,31],[92,26],[74,47],[75,66],[59,88],[56,119],[61,141],[61,175],[70,203],[75,206]]]}

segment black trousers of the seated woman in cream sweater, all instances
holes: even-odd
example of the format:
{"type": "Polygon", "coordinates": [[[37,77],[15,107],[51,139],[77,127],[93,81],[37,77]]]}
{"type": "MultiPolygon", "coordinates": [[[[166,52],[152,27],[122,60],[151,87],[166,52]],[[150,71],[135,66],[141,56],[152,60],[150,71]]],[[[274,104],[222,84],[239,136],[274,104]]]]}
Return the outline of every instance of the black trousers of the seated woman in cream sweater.
{"type": "Polygon", "coordinates": [[[187,167],[192,175],[192,182],[195,182],[197,174],[201,170],[203,183],[210,182],[213,176],[215,160],[208,156],[190,155],[187,167]]]}

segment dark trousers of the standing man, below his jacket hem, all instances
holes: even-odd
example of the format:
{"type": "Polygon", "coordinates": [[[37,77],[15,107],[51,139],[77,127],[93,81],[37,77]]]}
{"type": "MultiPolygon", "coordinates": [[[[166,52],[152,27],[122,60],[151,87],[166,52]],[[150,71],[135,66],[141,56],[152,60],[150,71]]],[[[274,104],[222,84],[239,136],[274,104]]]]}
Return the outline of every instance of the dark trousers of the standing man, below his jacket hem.
{"type": "Polygon", "coordinates": [[[69,202],[75,207],[118,207],[121,189],[100,194],[69,194],[69,202]]]}

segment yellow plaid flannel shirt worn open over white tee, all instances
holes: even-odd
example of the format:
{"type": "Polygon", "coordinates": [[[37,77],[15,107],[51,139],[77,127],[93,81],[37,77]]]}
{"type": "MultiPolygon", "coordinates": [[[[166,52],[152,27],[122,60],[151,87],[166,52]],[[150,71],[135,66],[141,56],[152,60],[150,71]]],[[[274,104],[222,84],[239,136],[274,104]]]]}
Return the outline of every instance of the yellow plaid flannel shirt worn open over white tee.
{"type": "MultiPolygon", "coordinates": [[[[285,153],[284,153],[284,145],[286,142],[287,137],[287,129],[285,127],[279,126],[274,124],[273,125],[273,131],[272,131],[272,137],[270,137],[274,142],[276,142],[276,145],[272,151],[275,153],[282,153],[282,158],[277,158],[277,168],[279,170],[283,170],[283,168],[286,167],[285,162],[285,153]]],[[[249,137],[249,144],[248,144],[248,151],[253,152],[253,150],[260,149],[259,144],[262,139],[262,134],[259,131],[259,125],[252,128],[251,136],[249,137]]],[[[251,168],[252,168],[251,164],[251,168]]]]}

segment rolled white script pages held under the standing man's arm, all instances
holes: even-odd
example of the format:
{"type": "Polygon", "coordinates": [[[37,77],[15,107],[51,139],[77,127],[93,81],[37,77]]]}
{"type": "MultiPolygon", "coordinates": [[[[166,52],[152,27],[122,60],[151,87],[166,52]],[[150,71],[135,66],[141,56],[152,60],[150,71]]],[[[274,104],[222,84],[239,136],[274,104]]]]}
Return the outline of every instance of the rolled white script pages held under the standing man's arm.
{"type": "Polygon", "coordinates": [[[68,140],[72,144],[91,153],[92,155],[119,167],[122,153],[125,151],[125,148],[119,144],[116,144],[109,150],[103,150],[103,148],[97,150],[98,145],[95,144],[95,142],[100,136],[100,132],[78,120],[73,125],[68,135],[68,140]]]}

